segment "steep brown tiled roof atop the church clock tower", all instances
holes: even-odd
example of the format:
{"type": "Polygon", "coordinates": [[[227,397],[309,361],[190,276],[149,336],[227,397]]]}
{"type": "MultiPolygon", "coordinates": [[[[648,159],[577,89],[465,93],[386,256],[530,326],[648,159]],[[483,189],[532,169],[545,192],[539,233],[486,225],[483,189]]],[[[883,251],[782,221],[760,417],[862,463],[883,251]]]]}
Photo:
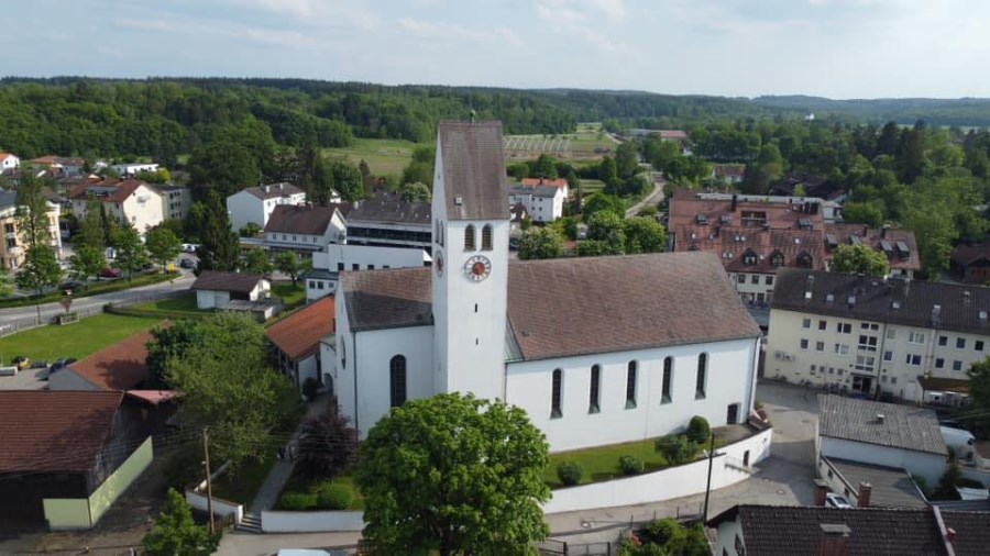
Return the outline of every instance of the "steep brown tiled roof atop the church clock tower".
{"type": "Polygon", "coordinates": [[[448,220],[508,220],[502,122],[440,122],[438,148],[448,220]]]}

